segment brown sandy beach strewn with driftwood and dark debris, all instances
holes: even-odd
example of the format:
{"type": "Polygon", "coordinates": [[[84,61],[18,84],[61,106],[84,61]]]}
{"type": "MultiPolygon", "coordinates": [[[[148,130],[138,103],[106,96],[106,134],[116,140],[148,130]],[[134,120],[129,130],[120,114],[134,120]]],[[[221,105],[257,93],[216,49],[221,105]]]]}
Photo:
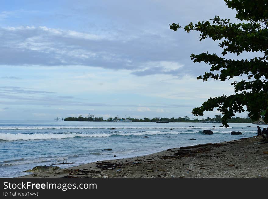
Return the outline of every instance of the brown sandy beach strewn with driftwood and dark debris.
{"type": "Polygon", "coordinates": [[[64,169],[40,169],[22,177],[268,177],[268,144],[260,142],[262,138],[254,136],[64,169]]]}

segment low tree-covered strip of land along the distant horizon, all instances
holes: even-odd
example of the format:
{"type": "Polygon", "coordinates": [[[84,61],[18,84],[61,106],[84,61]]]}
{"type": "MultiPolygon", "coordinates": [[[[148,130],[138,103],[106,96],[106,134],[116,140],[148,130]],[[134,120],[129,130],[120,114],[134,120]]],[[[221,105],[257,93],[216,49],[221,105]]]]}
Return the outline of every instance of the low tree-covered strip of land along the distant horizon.
{"type": "MultiPolygon", "coordinates": [[[[92,114],[88,114],[87,117],[82,117],[80,115],[79,117],[67,117],[67,118],[62,118],[62,121],[79,121],[79,122],[113,122],[117,120],[128,120],[131,122],[158,122],[158,121],[167,121],[167,122],[204,122],[204,123],[221,123],[221,115],[215,115],[213,118],[207,117],[206,119],[194,119],[191,120],[188,116],[184,117],[178,117],[178,118],[159,118],[159,117],[154,117],[152,119],[150,118],[108,118],[107,120],[103,120],[103,117],[94,117],[92,114]]],[[[232,117],[231,119],[228,120],[228,122],[231,123],[252,123],[252,120],[250,118],[241,118],[241,117],[232,117]]]]}

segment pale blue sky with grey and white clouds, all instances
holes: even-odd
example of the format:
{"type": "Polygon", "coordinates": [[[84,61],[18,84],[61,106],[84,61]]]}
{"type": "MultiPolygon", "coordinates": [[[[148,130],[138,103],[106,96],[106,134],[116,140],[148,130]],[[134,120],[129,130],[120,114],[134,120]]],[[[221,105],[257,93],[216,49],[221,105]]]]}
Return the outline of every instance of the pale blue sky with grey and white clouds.
{"type": "MultiPolygon", "coordinates": [[[[196,79],[210,67],[190,55],[220,54],[218,41],[199,42],[198,32],[169,29],[215,15],[235,21],[223,0],[0,3],[2,120],[88,113],[192,119],[192,109],[208,98],[234,93],[234,80],[196,79]]],[[[203,117],[218,114],[215,109],[203,117]]]]}

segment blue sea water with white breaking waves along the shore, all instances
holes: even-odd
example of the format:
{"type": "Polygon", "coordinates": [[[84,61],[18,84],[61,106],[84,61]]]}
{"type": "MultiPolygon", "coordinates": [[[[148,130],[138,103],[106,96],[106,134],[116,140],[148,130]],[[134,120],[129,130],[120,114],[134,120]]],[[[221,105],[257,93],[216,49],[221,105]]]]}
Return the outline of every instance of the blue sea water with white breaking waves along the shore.
{"type": "MultiPolygon", "coordinates": [[[[189,122],[0,121],[0,177],[25,175],[38,165],[75,166],[141,156],[168,148],[223,142],[257,135],[257,125],[189,122]],[[251,126],[251,127],[248,127],[251,126]],[[115,128],[115,129],[112,129],[115,128]],[[171,130],[172,129],[172,130],[171,130]],[[213,135],[202,131],[212,129],[213,135]],[[242,135],[231,135],[240,131],[242,135]],[[190,140],[194,138],[196,140],[190,140]],[[104,150],[112,149],[112,150],[104,150]],[[116,157],[114,157],[116,156],[116,157]]],[[[263,126],[261,128],[264,128],[263,126]]]]}

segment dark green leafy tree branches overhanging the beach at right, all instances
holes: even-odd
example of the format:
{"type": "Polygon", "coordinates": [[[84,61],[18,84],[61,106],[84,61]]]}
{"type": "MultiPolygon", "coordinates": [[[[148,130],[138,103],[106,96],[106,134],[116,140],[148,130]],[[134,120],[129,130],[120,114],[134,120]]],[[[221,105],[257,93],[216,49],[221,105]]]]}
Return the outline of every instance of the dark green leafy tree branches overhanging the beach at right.
{"type": "Polygon", "coordinates": [[[249,117],[256,121],[263,116],[268,122],[268,1],[267,0],[224,0],[228,8],[235,9],[236,18],[241,23],[231,23],[230,19],[214,19],[198,22],[182,27],[173,23],[170,29],[177,31],[179,28],[186,32],[199,31],[200,41],[207,37],[214,41],[219,40],[223,49],[222,55],[216,53],[192,54],[193,62],[204,62],[210,65],[210,72],[205,72],[197,77],[225,81],[233,77],[242,76],[242,80],[231,83],[235,94],[222,95],[210,98],[202,106],[194,108],[192,113],[196,116],[203,115],[205,111],[217,108],[223,115],[222,123],[228,127],[227,120],[236,112],[249,112],[249,117]],[[242,52],[259,52],[260,57],[245,60],[227,59],[228,53],[240,55],[242,52]],[[244,78],[245,77],[245,78],[244,78]],[[246,107],[246,110],[244,109],[246,107]]]}

